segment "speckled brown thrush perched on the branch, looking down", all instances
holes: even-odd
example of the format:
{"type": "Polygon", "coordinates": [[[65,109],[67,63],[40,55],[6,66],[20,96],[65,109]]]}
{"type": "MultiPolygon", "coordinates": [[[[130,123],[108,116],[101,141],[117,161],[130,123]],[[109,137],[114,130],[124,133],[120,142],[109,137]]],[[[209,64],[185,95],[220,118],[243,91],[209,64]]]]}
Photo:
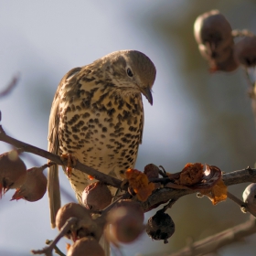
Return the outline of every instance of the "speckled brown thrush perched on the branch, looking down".
{"type": "MultiPolygon", "coordinates": [[[[52,102],[48,151],[72,155],[84,165],[122,179],[136,162],[144,130],[142,94],[152,105],[155,76],[152,60],[132,49],[69,70],[52,102]]],[[[76,169],[66,175],[81,203],[82,191],[91,180],[76,169]]],[[[60,208],[58,165],[48,169],[48,198],[55,228],[60,208]]]]}

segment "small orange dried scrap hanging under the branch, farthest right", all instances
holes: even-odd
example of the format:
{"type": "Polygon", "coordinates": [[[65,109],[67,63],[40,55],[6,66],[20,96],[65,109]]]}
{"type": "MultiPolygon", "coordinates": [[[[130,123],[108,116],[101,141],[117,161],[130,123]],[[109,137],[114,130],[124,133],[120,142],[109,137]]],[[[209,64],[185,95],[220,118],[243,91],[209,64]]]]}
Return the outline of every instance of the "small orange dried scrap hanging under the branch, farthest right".
{"type": "Polygon", "coordinates": [[[199,190],[200,193],[207,196],[213,205],[217,205],[221,201],[225,201],[227,199],[228,187],[224,184],[222,179],[210,189],[202,189],[199,190]]]}

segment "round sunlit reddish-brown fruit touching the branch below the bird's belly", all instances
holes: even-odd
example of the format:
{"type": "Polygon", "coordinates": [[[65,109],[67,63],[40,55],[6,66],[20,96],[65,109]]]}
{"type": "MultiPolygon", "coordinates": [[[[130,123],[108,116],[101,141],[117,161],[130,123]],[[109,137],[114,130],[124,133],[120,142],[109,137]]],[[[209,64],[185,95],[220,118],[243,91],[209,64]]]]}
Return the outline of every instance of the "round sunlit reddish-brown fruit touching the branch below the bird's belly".
{"type": "Polygon", "coordinates": [[[86,208],[101,210],[112,202],[110,189],[101,182],[95,182],[85,187],[82,192],[82,202],[86,208]]]}

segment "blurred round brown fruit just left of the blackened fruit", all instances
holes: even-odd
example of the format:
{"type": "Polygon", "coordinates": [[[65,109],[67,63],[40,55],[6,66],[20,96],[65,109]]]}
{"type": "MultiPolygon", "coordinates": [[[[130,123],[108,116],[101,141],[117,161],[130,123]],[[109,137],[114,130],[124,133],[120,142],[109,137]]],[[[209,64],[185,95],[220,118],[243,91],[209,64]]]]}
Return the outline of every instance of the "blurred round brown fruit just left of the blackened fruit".
{"type": "Polygon", "coordinates": [[[109,213],[111,240],[130,243],[136,240],[144,230],[143,220],[136,210],[127,207],[113,208],[109,213]]]}

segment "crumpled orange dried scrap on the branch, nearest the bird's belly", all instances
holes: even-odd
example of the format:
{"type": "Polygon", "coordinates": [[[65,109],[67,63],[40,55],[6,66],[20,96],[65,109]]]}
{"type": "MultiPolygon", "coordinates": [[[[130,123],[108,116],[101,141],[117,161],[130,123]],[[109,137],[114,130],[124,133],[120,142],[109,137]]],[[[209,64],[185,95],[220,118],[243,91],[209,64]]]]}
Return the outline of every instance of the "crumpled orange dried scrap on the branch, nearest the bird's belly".
{"type": "Polygon", "coordinates": [[[129,181],[129,186],[133,187],[133,191],[139,200],[145,201],[152,194],[152,191],[155,190],[154,183],[149,182],[144,173],[136,169],[128,169],[125,175],[129,181]]]}

